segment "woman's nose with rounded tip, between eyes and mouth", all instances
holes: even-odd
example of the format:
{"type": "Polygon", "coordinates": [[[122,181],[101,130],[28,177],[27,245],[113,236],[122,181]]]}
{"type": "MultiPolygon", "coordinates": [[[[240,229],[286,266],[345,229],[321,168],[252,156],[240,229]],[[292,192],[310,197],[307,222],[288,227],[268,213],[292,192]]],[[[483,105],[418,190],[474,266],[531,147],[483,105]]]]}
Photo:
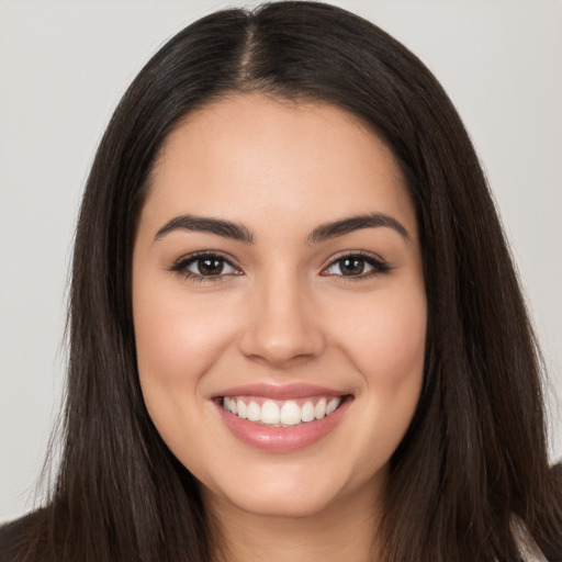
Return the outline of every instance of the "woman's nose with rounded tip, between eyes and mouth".
{"type": "Polygon", "coordinates": [[[283,368],[322,353],[325,337],[318,317],[296,280],[285,277],[263,282],[255,288],[250,300],[240,337],[246,357],[283,368]]]}

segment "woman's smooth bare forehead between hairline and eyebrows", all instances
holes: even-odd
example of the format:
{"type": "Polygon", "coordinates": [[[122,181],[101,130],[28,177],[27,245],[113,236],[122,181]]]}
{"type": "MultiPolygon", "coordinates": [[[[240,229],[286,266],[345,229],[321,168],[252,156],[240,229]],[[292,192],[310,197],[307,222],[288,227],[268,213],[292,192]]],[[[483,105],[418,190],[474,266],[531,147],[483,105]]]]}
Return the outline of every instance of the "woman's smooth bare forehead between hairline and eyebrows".
{"type": "Polygon", "coordinates": [[[367,211],[398,214],[415,229],[401,169],[368,126],[330,104],[240,94],[194,111],[170,133],[143,214],[202,214],[271,229],[273,222],[299,217],[314,227],[367,211]]]}

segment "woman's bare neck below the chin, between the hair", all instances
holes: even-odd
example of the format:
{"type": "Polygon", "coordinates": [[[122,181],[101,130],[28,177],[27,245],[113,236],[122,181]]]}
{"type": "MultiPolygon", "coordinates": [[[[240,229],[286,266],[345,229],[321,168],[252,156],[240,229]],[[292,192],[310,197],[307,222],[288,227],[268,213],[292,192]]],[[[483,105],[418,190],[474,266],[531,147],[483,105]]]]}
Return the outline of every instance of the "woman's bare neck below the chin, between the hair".
{"type": "Polygon", "coordinates": [[[211,520],[221,537],[222,551],[215,562],[373,562],[376,555],[378,495],[360,490],[302,516],[271,516],[248,513],[227,499],[211,498],[211,520]]]}

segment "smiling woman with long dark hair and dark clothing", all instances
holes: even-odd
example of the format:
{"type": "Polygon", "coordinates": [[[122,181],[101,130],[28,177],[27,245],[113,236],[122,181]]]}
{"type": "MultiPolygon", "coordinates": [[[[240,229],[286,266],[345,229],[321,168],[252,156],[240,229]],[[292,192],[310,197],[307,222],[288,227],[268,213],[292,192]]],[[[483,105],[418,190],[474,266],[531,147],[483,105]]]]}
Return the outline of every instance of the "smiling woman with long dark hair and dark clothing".
{"type": "Polygon", "coordinates": [[[474,150],[348,12],[218,12],[140,71],[88,180],[70,340],[58,480],[8,560],[562,557],[474,150]]]}

